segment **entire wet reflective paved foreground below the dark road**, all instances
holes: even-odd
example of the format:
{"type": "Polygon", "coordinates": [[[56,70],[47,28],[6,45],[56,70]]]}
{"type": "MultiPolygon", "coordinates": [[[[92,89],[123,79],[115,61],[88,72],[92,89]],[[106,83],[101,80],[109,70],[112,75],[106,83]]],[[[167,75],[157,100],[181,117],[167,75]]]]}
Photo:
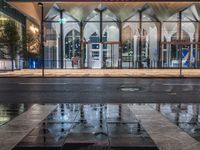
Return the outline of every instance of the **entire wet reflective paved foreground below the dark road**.
{"type": "Polygon", "coordinates": [[[199,149],[200,104],[63,103],[48,113],[37,104],[29,113],[35,105],[0,105],[0,112],[12,114],[0,126],[0,134],[7,133],[0,140],[10,144],[16,137],[13,150],[199,149]]]}

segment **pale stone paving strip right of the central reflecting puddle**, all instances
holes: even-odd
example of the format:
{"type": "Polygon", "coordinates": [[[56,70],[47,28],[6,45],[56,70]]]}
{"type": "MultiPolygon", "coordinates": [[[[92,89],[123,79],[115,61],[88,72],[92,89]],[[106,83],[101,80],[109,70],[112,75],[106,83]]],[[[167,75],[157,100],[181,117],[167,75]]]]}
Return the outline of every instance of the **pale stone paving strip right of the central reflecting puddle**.
{"type": "Polygon", "coordinates": [[[129,105],[130,110],[159,150],[199,150],[200,143],[148,105],[129,105]]]}

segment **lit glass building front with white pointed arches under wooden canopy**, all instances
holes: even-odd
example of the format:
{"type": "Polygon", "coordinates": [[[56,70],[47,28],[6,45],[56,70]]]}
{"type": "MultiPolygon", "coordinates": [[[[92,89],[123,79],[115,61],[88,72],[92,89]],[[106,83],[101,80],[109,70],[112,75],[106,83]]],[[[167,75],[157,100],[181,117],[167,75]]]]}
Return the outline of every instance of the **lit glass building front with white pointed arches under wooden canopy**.
{"type": "MultiPolygon", "coordinates": [[[[39,13],[36,2],[21,4],[39,13]]],[[[189,49],[183,67],[199,67],[199,3],[80,0],[43,6],[46,68],[71,68],[75,56],[82,68],[179,67],[180,48],[189,49]]]]}

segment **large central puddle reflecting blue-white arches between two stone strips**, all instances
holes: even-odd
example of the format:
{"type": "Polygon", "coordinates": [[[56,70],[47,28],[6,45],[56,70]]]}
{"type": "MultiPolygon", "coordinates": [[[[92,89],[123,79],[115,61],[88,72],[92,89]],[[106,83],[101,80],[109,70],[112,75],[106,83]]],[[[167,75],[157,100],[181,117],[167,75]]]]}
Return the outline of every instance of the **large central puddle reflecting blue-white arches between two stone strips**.
{"type": "Polygon", "coordinates": [[[15,150],[30,147],[157,150],[140,122],[121,104],[59,104],[15,150]]]}

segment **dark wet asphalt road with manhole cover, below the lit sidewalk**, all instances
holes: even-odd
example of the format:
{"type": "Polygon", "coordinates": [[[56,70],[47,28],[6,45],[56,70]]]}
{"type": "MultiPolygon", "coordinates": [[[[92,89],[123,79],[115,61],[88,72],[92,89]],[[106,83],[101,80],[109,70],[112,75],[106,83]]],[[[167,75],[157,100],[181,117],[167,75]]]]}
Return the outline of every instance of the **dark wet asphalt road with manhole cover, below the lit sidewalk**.
{"type": "Polygon", "coordinates": [[[0,103],[199,103],[200,79],[0,78],[0,103]]]}

